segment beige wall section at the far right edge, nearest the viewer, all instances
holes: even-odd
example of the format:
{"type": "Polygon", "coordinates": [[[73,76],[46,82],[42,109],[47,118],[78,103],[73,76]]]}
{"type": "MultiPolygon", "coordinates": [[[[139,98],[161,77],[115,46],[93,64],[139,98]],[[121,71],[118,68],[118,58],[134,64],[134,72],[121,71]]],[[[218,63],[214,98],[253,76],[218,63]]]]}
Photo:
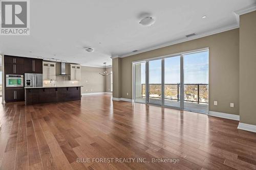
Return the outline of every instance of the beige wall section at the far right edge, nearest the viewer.
{"type": "Polygon", "coordinates": [[[256,125],[256,11],[240,16],[240,122],[256,125]]]}

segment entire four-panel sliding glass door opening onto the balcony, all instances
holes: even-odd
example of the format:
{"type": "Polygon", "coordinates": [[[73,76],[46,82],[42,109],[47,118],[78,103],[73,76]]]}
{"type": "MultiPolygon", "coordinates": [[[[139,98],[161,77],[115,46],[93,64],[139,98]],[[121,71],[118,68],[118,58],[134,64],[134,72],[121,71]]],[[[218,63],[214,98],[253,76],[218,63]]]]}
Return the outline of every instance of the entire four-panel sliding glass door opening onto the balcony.
{"type": "Polygon", "coordinates": [[[208,112],[208,50],[134,63],[134,100],[208,112]]]}

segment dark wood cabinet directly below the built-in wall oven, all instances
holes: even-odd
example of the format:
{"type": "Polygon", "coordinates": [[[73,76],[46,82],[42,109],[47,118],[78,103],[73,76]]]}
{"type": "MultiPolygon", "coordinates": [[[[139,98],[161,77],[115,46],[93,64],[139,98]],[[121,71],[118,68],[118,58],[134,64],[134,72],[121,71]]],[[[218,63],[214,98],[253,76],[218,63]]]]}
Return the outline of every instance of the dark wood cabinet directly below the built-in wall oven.
{"type": "Polygon", "coordinates": [[[19,102],[24,100],[24,88],[8,88],[5,90],[6,102],[19,102]]]}

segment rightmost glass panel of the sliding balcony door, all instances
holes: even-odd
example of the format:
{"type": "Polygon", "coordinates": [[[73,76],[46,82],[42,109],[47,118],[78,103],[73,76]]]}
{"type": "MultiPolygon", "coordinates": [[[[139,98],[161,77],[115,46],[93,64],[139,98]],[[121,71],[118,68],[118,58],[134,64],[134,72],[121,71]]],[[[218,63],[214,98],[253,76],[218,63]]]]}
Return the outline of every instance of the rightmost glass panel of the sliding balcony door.
{"type": "Polygon", "coordinates": [[[183,55],[184,109],[208,112],[208,51],[183,55]]]}

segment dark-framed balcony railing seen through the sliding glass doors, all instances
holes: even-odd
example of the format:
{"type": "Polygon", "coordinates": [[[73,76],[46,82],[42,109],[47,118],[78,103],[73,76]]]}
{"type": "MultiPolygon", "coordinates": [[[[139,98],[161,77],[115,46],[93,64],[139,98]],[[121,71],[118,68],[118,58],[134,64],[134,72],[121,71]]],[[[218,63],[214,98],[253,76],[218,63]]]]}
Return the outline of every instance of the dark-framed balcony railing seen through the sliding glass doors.
{"type": "MultiPolygon", "coordinates": [[[[150,98],[161,99],[161,84],[149,84],[150,98]]],[[[145,84],[141,84],[141,98],[145,98],[145,84]]],[[[180,101],[180,84],[164,84],[164,99],[180,101]]],[[[208,84],[184,84],[184,101],[208,104],[208,84]]]]}

